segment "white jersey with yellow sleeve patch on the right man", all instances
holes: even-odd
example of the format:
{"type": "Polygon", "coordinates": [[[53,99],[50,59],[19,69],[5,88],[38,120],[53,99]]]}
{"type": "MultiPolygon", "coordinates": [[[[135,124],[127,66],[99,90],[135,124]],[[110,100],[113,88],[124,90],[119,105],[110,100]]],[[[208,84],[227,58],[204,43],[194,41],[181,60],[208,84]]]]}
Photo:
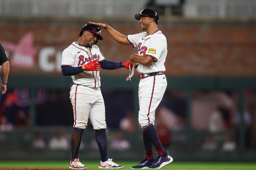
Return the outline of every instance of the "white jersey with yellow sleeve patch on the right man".
{"type": "Polygon", "coordinates": [[[149,66],[140,64],[137,67],[139,73],[154,73],[165,71],[165,59],[167,55],[167,41],[161,31],[156,31],[147,36],[147,32],[141,32],[127,36],[133,47],[138,47],[138,54],[150,56],[154,62],[149,66]]]}

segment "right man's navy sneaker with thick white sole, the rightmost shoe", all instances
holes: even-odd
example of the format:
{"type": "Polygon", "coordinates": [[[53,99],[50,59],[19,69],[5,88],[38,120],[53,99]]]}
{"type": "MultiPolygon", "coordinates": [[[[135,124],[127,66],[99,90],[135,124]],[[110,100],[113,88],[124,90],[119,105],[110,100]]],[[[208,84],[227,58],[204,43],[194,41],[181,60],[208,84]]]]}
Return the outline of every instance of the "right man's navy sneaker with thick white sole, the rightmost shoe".
{"type": "Polygon", "coordinates": [[[162,157],[156,153],[156,159],[153,162],[153,165],[149,166],[149,169],[160,169],[170,163],[172,163],[173,158],[168,154],[169,151],[166,152],[166,156],[162,157]]]}

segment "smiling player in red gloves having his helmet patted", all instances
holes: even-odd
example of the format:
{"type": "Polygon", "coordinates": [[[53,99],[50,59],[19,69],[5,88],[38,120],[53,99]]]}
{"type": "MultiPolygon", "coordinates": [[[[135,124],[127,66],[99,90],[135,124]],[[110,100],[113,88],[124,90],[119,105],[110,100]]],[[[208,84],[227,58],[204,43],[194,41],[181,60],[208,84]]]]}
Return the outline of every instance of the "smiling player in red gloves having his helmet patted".
{"type": "Polygon", "coordinates": [[[62,53],[61,68],[63,75],[70,75],[73,85],[70,89],[70,100],[74,113],[74,131],[71,137],[72,159],[70,169],[86,169],[78,159],[78,151],[84,129],[90,119],[95,138],[100,150],[99,168],[123,168],[108,158],[105,105],[100,91],[99,69],[129,69],[130,60],[112,62],[105,60],[96,46],[103,40],[101,29],[97,25],[86,24],[80,31],[80,38],[73,42],[62,53]]]}

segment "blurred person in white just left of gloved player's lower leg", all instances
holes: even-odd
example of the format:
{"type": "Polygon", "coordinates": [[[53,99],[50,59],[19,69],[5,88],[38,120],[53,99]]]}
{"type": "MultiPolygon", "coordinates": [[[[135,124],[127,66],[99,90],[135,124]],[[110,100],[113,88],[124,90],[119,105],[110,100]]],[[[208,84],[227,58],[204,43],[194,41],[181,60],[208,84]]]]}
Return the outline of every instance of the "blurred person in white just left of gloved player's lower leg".
{"type": "Polygon", "coordinates": [[[69,141],[62,136],[60,131],[56,132],[56,136],[52,137],[49,141],[49,148],[52,150],[68,150],[69,141]]]}

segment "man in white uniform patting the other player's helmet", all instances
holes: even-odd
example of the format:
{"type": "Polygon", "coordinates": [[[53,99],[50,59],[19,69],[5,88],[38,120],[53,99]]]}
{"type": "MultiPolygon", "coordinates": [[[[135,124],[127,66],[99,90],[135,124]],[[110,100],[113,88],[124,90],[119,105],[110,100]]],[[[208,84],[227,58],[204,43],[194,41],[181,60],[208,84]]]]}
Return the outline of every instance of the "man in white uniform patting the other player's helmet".
{"type": "Polygon", "coordinates": [[[132,54],[130,60],[131,64],[139,63],[139,123],[143,130],[146,156],[132,169],[160,169],[173,161],[168,152],[164,151],[154,126],[155,110],[167,86],[164,75],[167,42],[164,34],[157,29],[159,17],[155,11],[144,9],[134,17],[139,20],[141,30],[145,32],[125,36],[107,24],[89,23],[104,28],[117,42],[138,48],[138,54],[132,54]],[[157,151],[155,160],[153,146],[157,151]]]}

